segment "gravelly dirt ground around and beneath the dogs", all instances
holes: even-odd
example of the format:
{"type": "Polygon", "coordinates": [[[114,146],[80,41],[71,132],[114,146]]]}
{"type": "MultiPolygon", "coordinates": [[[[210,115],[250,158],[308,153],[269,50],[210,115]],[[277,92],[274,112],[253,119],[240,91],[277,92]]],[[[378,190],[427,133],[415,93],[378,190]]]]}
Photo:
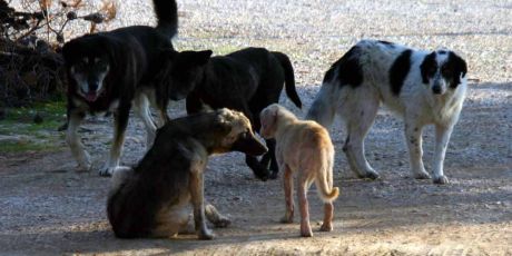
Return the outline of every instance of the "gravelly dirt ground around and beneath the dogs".
{"type": "MultiPolygon", "coordinates": [[[[331,129],[337,151],[335,186],[342,190],[334,232],[318,232],[322,204],[314,187],[309,207],[315,236],[301,238],[297,221],[278,223],[285,207],[280,180],[256,180],[243,155],[229,154],[210,159],[206,196],[230,216],[232,226],[214,229],[217,236],[208,242],[194,235],[122,240],[114,237],[106,217],[109,178],[75,171],[67,148],[2,154],[0,254],[512,255],[512,1],[179,3],[179,49],[225,53],[266,46],[287,52],[295,60],[305,109],[329,63],[361,38],[461,52],[470,63],[471,82],[446,154],[451,184],[411,177],[403,124],[382,110],[366,140],[366,155],[381,173],[380,180],[354,178],[341,150],[343,126],[331,129]]],[[[146,10],[139,21],[150,23],[150,12],[146,10]]],[[[134,21],[121,24],[128,23],[134,21]]],[[[304,116],[305,110],[285,97],[282,104],[304,116]]],[[[170,115],[184,115],[184,104],[174,104],[170,115]]],[[[83,127],[83,141],[98,168],[109,148],[111,120],[89,118],[83,127]]],[[[130,119],[127,135],[122,161],[128,165],[145,151],[138,119],[130,119]]],[[[430,170],[432,128],[423,138],[430,170]]]]}

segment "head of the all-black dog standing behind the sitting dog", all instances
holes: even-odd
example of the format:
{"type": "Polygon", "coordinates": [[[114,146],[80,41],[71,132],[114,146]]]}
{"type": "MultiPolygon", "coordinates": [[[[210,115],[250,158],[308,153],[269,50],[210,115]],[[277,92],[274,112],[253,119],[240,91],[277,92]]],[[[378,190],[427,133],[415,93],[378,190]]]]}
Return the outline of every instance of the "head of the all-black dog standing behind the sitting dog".
{"type": "Polygon", "coordinates": [[[159,75],[159,82],[167,86],[171,100],[180,100],[196,88],[204,76],[204,69],[211,56],[205,51],[164,50],[165,67],[159,75]]]}

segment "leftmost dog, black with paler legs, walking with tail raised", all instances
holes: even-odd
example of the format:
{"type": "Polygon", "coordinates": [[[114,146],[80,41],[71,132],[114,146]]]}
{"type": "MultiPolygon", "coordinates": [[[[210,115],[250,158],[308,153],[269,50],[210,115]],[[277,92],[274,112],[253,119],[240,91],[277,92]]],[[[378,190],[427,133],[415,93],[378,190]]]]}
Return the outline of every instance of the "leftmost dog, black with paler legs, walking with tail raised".
{"type": "MultiPolygon", "coordinates": [[[[87,112],[114,112],[114,144],[107,165],[100,169],[100,175],[108,176],[119,165],[131,106],[145,124],[147,144],[150,145],[156,125],[150,117],[149,101],[177,100],[187,95],[179,88],[158,82],[160,67],[169,61],[161,57],[161,51],[173,50],[170,40],[177,32],[178,14],[175,0],[154,0],[154,4],[158,18],[156,28],[120,28],[86,35],[63,46],[68,72],[66,139],[80,169],[88,170],[91,166],[89,155],[77,135],[87,112]]],[[[161,104],[158,108],[160,114],[165,111],[161,104]]]]}

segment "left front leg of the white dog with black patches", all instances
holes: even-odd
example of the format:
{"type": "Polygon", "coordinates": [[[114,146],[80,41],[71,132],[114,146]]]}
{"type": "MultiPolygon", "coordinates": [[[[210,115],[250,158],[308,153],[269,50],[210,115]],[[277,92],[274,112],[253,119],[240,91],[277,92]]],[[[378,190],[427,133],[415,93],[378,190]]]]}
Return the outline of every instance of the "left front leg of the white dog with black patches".
{"type": "Polygon", "coordinates": [[[408,147],[411,171],[416,179],[429,179],[430,175],[425,171],[422,159],[422,128],[421,125],[412,120],[405,120],[405,140],[408,147]]]}

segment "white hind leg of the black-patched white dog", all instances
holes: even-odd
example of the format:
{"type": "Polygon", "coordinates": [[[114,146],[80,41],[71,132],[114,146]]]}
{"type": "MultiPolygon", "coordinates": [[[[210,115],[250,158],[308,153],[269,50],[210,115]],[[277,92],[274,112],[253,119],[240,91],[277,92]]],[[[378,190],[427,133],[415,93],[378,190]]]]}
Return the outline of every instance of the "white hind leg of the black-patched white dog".
{"type": "MultiPolygon", "coordinates": [[[[370,166],[364,152],[364,138],[373,125],[377,115],[378,99],[371,99],[374,93],[366,92],[358,88],[355,90],[358,93],[353,99],[342,106],[343,118],[346,121],[347,138],[343,146],[348,164],[353,171],[360,178],[378,178],[378,174],[370,166]],[[365,100],[361,100],[361,99],[365,100]]],[[[375,96],[376,97],[376,96],[375,96]]]]}

